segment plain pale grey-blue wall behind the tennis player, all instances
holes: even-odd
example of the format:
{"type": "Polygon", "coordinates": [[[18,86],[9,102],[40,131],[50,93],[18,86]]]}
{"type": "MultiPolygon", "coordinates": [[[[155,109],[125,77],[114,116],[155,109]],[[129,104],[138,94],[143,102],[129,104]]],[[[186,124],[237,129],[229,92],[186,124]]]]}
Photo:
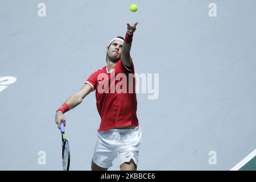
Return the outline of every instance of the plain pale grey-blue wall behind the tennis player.
{"type": "MultiPolygon", "coordinates": [[[[0,75],[17,80],[0,92],[0,169],[61,169],[56,109],[105,66],[109,41],[136,21],[135,72],[159,73],[158,100],[137,96],[138,169],[232,168],[256,142],[255,6],[254,0],[1,1],[0,75]],[[46,17],[38,16],[40,2],[46,17]],[[210,18],[212,2],[217,17],[210,18]],[[39,151],[46,165],[38,164],[39,151]],[[216,165],[208,163],[209,151],[216,151],[216,165]]],[[[90,170],[100,124],[94,94],[65,114],[71,170],[90,170]]]]}

